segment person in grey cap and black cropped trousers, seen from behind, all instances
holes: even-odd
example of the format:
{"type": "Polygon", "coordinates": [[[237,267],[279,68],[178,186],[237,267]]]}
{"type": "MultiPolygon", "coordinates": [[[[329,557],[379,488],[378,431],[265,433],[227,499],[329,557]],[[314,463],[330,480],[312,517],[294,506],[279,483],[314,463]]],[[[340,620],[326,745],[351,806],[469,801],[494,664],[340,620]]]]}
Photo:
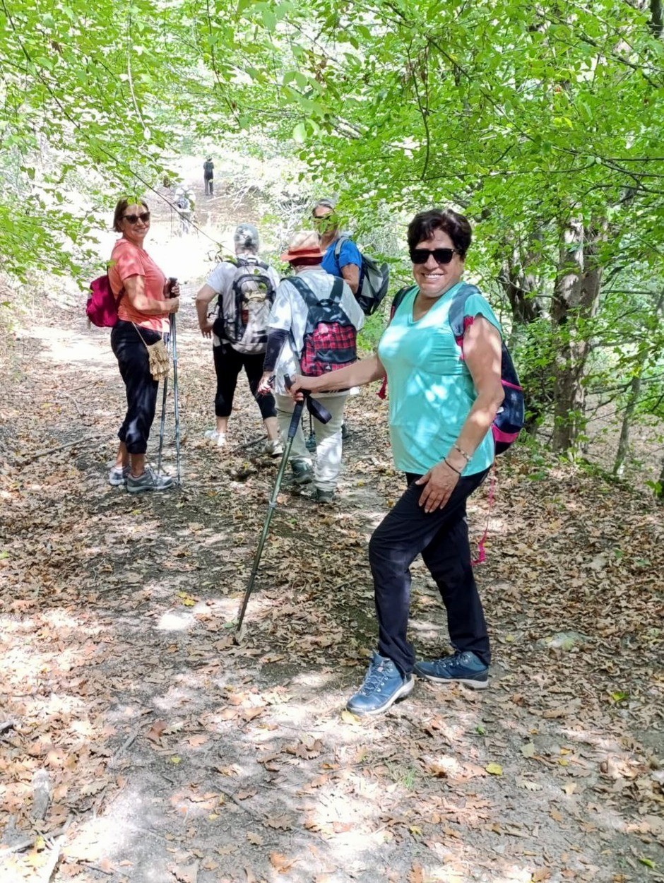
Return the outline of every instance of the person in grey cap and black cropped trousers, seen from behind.
{"type": "Polygon", "coordinates": [[[238,374],[244,367],[268,434],[263,450],[278,457],[283,447],[279,441],[275,397],[269,390],[267,395],[257,390],[268,339],[268,316],[279,276],[258,258],[258,230],[253,224],[241,223],[233,241],[236,260],[222,260],[196,295],[200,333],[212,337],[216,373],[216,426],[208,429],[205,437],[219,448],[226,444],[238,374]],[[217,317],[211,321],[207,318],[207,307],[214,298],[217,298],[217,317]]]}

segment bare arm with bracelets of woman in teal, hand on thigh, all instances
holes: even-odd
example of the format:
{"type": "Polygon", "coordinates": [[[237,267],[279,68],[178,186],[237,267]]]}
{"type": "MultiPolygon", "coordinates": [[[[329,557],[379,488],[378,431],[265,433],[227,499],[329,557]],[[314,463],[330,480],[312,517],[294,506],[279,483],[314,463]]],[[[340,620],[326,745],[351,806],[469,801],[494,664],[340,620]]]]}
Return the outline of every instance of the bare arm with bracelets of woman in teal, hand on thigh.
{"type": "Polygon", "coordinates": [[[447,456],[418,479],[424,485],[419,505],[426,512],[442,509],[461,473],[485,437],[502,404],[501,335],[483,316],[476,316],[464,334],[464,360],[477,398],[447,456]]]}

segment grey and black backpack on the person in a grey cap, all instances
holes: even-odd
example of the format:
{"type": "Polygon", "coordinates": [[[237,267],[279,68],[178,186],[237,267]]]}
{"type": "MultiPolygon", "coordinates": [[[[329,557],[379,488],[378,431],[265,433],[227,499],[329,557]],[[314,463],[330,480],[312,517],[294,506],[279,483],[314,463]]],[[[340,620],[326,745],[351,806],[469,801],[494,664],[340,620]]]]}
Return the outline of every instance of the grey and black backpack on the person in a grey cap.
{"type": "Polygon", "coordinates": [[[230,294],[220,295],[217,301],[215,335],[238,352],[265,352],[268,318],[275,300],[268,264],[253,256],[227,258],[226,262],[236,269],[230,294]]]}

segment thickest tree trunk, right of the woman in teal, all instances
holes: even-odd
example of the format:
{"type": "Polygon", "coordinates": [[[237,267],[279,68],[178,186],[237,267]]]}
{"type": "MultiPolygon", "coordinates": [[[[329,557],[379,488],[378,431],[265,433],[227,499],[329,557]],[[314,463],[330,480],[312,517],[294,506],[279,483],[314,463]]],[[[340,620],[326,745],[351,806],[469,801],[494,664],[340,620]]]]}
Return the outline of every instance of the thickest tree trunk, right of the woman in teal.
{"type": "Polygon", "coordinates": [[[557,452],[574,449],[585,426],[585,364],[591,340],[585,321],[597,313],[602,268],[595,260],[600,228],[570,221],[562,231],[551,318],[560,334],[555,366],[554,435],[557,452]]]}

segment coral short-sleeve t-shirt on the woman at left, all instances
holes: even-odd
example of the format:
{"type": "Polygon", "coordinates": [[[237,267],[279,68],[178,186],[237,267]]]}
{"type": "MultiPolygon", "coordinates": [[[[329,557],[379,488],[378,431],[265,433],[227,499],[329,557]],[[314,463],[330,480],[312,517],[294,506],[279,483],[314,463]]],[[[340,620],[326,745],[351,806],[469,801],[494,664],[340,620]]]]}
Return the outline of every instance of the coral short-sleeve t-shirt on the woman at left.
{"type": "MultiPolygon", "coordinates": [[[[130,276],[140,275],[144,279],[146,297],[150,300],[163,300],[163,288],[166,276],[149,254],[128,239],[118,239],[110,256],[109,282],[113,294],[117,298],[124,290],[124,280],[130,276]]],[[[141,328],[152,328],[153,331],[166,332],[170,328],[169,313],[141,313],[124,296],[117,306],[117,315],[127,322],[135,322],[141,328]]]]}

